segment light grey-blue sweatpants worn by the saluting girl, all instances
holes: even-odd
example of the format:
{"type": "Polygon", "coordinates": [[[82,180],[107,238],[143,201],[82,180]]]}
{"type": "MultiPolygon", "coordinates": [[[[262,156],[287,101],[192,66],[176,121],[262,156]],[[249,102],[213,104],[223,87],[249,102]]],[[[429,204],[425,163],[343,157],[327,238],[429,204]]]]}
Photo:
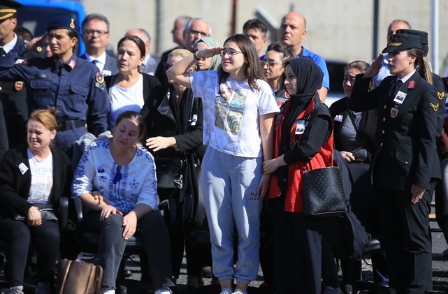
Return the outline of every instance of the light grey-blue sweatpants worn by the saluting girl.
{"type": "Polygon", "coordinates": [[[261,200],[256,192],[262,158],[247,158],[207,148],[201,188],[212,242],[213,274],[219,281],[245,284],[259,268],[261,200]],[[233,228],[238,230],[238,263],[233,268],[233,228]]]}

